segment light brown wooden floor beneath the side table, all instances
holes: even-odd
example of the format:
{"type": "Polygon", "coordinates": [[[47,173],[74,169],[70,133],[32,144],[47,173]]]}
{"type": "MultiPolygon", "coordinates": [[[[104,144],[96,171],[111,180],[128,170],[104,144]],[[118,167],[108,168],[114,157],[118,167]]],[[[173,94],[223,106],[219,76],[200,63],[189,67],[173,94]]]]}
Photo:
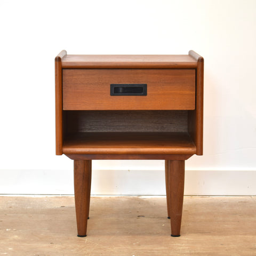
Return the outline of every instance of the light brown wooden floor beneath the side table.
{"type": "Polygon", "coordinates": [[[74,197],[1,197],[0,255],[256,255],[256,197],[185,197],[181,237],[165,198],[92,197],[76,236],[74,197]]]}

